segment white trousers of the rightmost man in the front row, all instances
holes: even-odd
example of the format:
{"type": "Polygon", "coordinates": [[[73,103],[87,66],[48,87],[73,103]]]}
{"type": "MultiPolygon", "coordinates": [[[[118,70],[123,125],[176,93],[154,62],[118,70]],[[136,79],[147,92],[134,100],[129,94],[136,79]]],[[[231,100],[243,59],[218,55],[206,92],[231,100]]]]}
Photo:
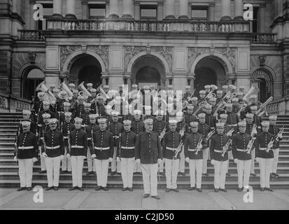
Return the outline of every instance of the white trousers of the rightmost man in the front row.
{"type": "Polygon", "coordinates": [[[274,158],[259,158],[261,188],[270,188],[270,173],[272,171],[273,160],[274,158]]]}

